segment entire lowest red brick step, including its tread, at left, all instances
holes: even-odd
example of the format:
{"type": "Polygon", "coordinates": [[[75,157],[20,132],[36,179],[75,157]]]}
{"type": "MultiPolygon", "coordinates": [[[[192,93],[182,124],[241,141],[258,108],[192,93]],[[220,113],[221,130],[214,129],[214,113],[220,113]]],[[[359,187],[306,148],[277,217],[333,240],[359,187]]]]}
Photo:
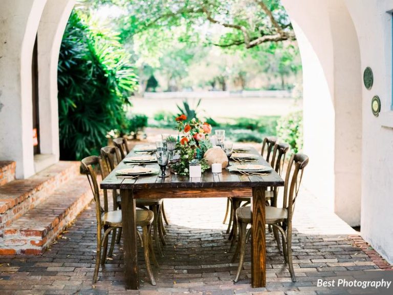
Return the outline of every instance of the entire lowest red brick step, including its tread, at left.
{"type": "Polygon", "coordinates": [[[39,254],[92,200],[86,176],[63,183],[48,198],[4,229],[0,254],[39,254]]]}

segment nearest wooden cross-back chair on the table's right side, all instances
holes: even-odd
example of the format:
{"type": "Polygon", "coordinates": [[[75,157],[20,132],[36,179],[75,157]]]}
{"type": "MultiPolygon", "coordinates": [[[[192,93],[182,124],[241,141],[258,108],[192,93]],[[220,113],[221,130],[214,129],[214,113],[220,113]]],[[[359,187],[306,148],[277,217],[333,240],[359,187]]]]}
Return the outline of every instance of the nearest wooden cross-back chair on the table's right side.
{"type": "MultiPolygon", "coordinates": [[[[282,208],[266,206],[266,224],[271,225],[280,234],[282,239],[282,252],[285,262],[288,263],[289,272],[293,282],[296,282],[292,263],[292,216],[295,201],[299,191],[304,167],[309,163],[309,157],[303,154],[292,155],[285,178],[282,208]],[[299,175],[300,173],[300,175],[299,175]]],[[[251,224],[251,207],[240,207],[236,210],[236,218],[239,223],[240,239],[237,243],[232,262],[240,253],[239,266],[237,268],[235,282],[238,281],[242,271],[246,251],[247,225],[251,224]]]]}

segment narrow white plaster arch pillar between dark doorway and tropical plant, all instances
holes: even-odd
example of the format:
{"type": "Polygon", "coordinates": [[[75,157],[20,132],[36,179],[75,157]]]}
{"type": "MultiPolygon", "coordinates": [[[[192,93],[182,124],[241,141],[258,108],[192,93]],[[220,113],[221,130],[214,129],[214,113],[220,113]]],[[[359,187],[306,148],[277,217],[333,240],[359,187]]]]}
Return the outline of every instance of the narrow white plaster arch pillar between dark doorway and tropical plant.
{"type": "Polygon", "coordinates": [[[59,160],[57,64],[61,40],[75,0],[48,0],[38,27],[38,85],[41,154],[59,160]]]}

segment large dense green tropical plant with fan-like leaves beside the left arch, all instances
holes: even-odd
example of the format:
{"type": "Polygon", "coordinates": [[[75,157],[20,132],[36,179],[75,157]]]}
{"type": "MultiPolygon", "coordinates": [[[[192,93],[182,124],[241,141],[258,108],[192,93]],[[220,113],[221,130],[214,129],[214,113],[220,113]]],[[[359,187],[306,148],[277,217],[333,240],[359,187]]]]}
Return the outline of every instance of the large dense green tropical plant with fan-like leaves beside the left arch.
{"type": "Polygon", "coordinates": [[[98,154],[110,130],[127,131],[128,97],[137,86],[117,33],[74,11],[58,64],[60,158],[98,154]]]}

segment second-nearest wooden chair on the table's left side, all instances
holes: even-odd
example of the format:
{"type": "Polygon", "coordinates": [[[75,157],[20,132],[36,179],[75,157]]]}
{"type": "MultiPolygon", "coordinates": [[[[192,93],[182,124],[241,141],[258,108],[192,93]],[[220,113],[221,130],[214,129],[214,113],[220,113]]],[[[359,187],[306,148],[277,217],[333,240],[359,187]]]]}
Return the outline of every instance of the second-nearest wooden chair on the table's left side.
{"type": "MultiPolygon", "coordinates": [[[[116,138],[121,139],[121,138],[116,138]]],[[[106,163],[108,174],[116,167],[117,163],[121,161],[121,151],[119,151],[117,146],[104,146],[101,148],[101,157],[103,162],[106,163]]],[[[105,175],[106,177],[106,175],[105,175]]],[[[114,189],[112,191],[113,202],[114,202],[114,210],[117,208],[121,209],[121,199],[120,194],[114,189]]],[[[160,240],[166,245],[165,237],[164,237],[164,225],[162,224],[162,216],[161,216],[161,206],[163,200],[162,199],[137,199],[136,206],[141,209],[150,209],[154,213],[154,222],[153,222],[153,233],[154,239],[156,243],[156,248],[158,254],[163,257],[163,252],[161,250],[160,240]]],[[[112,240],[114,240],[115,234],[112,236],[112,240]]],[[[117,237],[117,242],[120,242],[121,229],[119,229],[119,234],[117,237]]],[[[110,253],[112,254],[113,247],[111,243],[110,253]]]]}

